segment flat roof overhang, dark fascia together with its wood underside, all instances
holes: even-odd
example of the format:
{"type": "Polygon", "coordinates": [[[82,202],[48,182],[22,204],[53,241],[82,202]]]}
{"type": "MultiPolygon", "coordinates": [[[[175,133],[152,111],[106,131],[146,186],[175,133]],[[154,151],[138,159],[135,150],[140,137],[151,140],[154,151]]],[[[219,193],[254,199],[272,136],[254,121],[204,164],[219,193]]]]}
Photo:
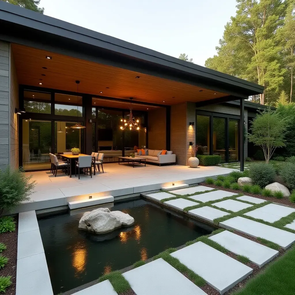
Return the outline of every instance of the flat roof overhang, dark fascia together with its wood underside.
{"type": "MultiPolygon", "coordinates": [[[[98,89],[95,88],[89,90],[91,87],[89,85],[86,87],[85,84],[85,88],[87,88],[85,93],[89,94],[99,94],[100,91],[104,92],[101,87],[104,86],[104,89],[110,87],[106,86],[106,83],[103,83],[102,80],[101,85],[98,83],[98,79],[107,72],[109,72],[109,76],[106,75],[104,80],[105,82],[112,82],[113,88],[120,88],[120,82],[125,78],[124,93],[121,89],[108,96],[123,99],[132,96],[139,101],[146,102],[154,102],[152,100],[157,98],[157,102],[161,104],[163,104],[163,100],[166,102],[168,99],[167,104],[175,104],[181,101],[208,101],[217,98],[220,98],[221,101],[230,101],[248,98],[249,95],[263,92],[263,86],[255,83],[188,63],[3,1],[0,1],[0,26],[0,39],[14,43],[12,50],[18,76],[20,76],[19,83],[21,84],[36,85],[36,80],[41,75],[39,72],[42,70],[42,66],[39,69],[39,65],[46,61],[42,58],[45,59],[44,55],[53,54],[56,60],[63,59],[64,62],[64,64],[60,63],[54,66],[54,68],[59,66],[60,71],[54,69],[51,71],[56,80],[60,79],[59,75],[71,80],[67,81],[69,83],[64,83],[62,90],[68,90],[64,87],[70,86],[65,86],[65,84],[70,85],[74,80],[81,79],[83,81],[82,78],[79,78],[79,75],[81,76],[83,73],[85,76],[85,71],[81,71],[82,65],[84,65],[84,68],[88,67],[88,73],[84,77],[86,78],[85,81],[88,83],[91,80],[89,79],[91,71],[95,72],[97,75],[92,80],[95,80],[97,87],[100,88],[98,92],[98,89]],[[71,70],[69,67],[68,70],[65,69],[68,65],[71,65],[71,70]],[[76,71],[73,71],[75,66],[76,71]],[[36,71],[36,67],[38,67],[38,71],[36,71]],[[33,73],[34,71],[35,73],[33,73]],[[30,73],[34,83],[26,82],[28,78],[26,76],[30,73]],[[138,80],[136,83],[135,74],[141,77],[136,79],[138,80]],[[110,79],[110,75],[112,79],[110,79]],[[126,91],[127,86],[133,88],[133,91],[126,91]],[[151,86],[153,89],[150,91],[151,86]],[[203,91],[199,92],[199,90],[203,91]],[[165,98],[162,96],[163,94],[165,94],[165,98]],[[175,99],[176,94],[182,98],[175,99]]],[[[48,62],[52,62],[53,65],[54,59],[48,60],[48,62]]],[[[60,82],[53,83],[53,77],[51,80],[51,84],[48,83],[47,87],[60,89],[58,87],[60,82]]],[[[82,84],[80,86],[81,92],[84,92],[82,84]]],[[[132,90],[131,88],[130,90],[132,90]]],[[[69,91],[76,91],[75,85],[69,91]]]]}

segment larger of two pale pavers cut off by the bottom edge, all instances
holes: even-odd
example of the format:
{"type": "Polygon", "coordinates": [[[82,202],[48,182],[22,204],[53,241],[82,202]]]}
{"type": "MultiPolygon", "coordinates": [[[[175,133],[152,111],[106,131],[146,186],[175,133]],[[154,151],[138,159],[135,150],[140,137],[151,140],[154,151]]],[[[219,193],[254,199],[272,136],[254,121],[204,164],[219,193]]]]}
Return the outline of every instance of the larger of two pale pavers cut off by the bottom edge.
{"type": "Polygon", "coordinates": [[[206,295],[162,258],[123,273],[136,295],[206,295]]]}

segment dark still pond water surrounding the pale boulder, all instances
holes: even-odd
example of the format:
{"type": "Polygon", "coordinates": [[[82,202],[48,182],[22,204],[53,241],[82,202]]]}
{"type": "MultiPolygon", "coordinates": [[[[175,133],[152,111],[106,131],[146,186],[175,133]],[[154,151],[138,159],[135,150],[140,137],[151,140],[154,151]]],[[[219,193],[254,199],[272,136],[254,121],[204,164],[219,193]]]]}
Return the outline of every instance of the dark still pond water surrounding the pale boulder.
{"type": "Polygon", "coordinates": [[[105,273],[153,257],[167,248],[181,246],[214,230],[144,199],[117,203],[109,209],[130,214],[135,224],[95,235],[78,230],[83,212],[38,218],[54,294],[94,281],[105,273]]]}

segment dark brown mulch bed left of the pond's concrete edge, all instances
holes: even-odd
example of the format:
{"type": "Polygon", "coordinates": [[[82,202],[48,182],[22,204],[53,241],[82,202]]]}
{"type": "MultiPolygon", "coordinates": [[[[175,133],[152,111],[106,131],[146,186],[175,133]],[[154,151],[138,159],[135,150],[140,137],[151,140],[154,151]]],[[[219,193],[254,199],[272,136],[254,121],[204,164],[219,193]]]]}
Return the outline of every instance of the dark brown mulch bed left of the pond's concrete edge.
{"type": "Polygon", "coordinates": [[[0,234],[0,242],[7,247],[2,251],[2,255],[9,258],[4,268],[0,269],[0,276],[12,276],[12,284],[6,289],[5,295],[15,295],[16,277],[17,277],[17,230],[18,216],[14,217],[15,231],[0,234]]]}

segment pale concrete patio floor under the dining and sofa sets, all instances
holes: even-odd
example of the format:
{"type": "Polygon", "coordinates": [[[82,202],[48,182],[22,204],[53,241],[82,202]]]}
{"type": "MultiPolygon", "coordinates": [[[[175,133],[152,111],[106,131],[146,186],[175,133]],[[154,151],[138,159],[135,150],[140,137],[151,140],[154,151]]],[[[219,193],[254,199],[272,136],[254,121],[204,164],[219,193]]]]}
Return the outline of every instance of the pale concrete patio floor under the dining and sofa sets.
{"type": "Polygon", "coordinates": [[[142,192],[156,191],[172,183],[199,183],[208,176],[226,175],[233,169],[218,166],[190,168],[183,165],[136,166],[104,164],[104,173],[69,178],[62,171],[54,177],[50,171],[26,172],[36,181],[30,201],[17,207],[15,213],[30,210],[66,206],[70,201],[112,195],[115,199],[123,196],[139,196],[142,192]]]}

